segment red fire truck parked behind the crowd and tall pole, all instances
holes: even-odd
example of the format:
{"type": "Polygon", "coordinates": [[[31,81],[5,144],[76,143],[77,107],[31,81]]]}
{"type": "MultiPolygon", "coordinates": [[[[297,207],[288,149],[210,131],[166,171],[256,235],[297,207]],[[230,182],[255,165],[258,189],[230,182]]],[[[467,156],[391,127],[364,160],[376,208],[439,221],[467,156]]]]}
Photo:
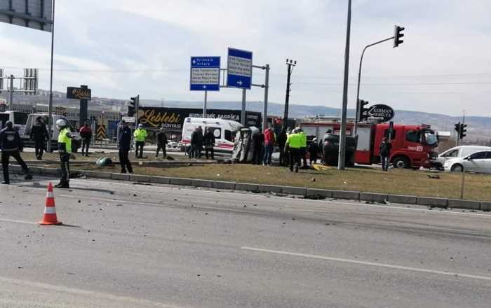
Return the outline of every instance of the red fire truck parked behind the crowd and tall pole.
{"type": "MultiPolygon", "coordinates": [[[[339,134],[341,123],[335,118],[306,119],[300,127],[307,136],[316,137],[319,141],[328,130],[339,134]]],[[[347,123],[347,135],[353,135],[354,123],[347,123]]],[[[394,124],[389,130],[388,123],[358,124],[356,151],[354,162],[359,165],[372,165],[380,162],[379,145],[384,137],[391,139],[392,150],[389,158],[396,168],[431,167],[431,159],[438,153],[438,139],[436,132],[429,125],[394,124]]]]}

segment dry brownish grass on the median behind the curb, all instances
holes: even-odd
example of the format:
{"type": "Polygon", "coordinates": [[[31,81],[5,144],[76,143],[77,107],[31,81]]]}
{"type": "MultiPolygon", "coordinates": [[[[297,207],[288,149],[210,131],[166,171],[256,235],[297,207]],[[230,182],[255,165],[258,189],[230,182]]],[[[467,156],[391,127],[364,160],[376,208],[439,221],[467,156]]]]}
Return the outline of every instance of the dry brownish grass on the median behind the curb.
{"type": "MultiPolygon", "coordinates": [[[[34,158],[34,153],[22,154],[25,159],[28,159],[29,155],[34,158]]],[[[76,155],[76,160],[72,160],[74,162],[73,169],[77,169],[76,162],[83,160],[95,162],[97,158],[103,155],[107,154],[93,154],[90,158],[76,155]]],[[[116,153],[111,153],[108,156],[109,158],[116,158],[116,153]]],[[[48,153],[46,158],[53,161],[43,165],[58,167],[58,154],[48,153]]],[[[182,159],[186,158],[182,157],[182,159]]],[[[462,174],[448,172],[438,173],[440,179],[430,179],[429,175],[435,175],[434,172],[405,169],[391,169],[390,172],[382,172],[381,169],[359,167],[339,172],[335,167],[332,167],[323,171],[300,170],[298,174],[292,174],[285,167],[243,164],[192,165],[192,162],[189,161],[191,164],[189,166],[162,168],[146,167],[144,161],[142,160],[143,165],[139,165],[137,160],[133,161],[135,174],[448,198],[460,197],[462,179],[462,174]]],[[[83,169],[119,172],[118,166],[100,169],[95,164],[83,165],[83,169]]],[[[464,197],[469,200],[491,201],[491,175],[466,174],[464,197]]]]}

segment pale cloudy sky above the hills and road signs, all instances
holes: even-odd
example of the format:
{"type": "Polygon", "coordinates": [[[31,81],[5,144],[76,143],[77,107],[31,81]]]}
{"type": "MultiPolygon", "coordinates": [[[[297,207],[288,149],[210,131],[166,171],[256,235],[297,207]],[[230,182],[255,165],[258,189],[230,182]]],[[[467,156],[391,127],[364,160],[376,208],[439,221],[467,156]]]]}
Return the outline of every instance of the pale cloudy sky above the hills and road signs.
{"type": "MultiPolygon", "coordinates": [[[[403,25],[405,42],[386,42],[365,53],[361,98],[395,109],[491,116],[491,24],[488,0],[354,0],[349,105],[365,45],[403,25]]],[[[94,96],[200,101],[189,91],[189,57],[218,55],[227,47],[254,52],[269,63],[270,102],[284,102],[285,59],[296,59],[292,104],[341,106],[347,1],[57,0],[55,90],[86,84],[94,96]]],[[[39,67],[48,88],[50,34],[0,24],[6,73],[39,67]]],[[[253,71],[262,83],[263,71],[253,71]]],[[[210,100],[238,101],[222,89],[210,100]]],[[[248,100],[262,101],[259,88],[248,100]]]]}

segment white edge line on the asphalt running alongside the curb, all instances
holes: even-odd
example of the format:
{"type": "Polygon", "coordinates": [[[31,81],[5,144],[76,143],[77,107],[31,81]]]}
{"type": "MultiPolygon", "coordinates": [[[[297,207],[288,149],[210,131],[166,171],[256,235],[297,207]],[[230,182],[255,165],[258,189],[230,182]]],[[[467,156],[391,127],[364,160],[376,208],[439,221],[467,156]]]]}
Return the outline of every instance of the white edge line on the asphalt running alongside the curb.
{"type": "MultiPolygon", "coordinates": [[[[91,181],[91,180],[79,180],[77,179],[76,181],[79,181],[79,182],[83,182],[83,183],[100,183],[100,184],[106,184],[106,185],[110,185],[110,183],[112,182],[109,182],[109,181],[91,181]]],[[[153,185],[155,185],[155,183],[152,183],[153,185]]],[[[125,185],[125,186],[133,186],[135,187],[134,184],[128,184],[128,183],[118,183],[118,185],[125,185]]],[[[285,197],[277,197],[277,196],[274,196],[274,195],[270,195],[270,196],[264,196],[264,195],[250,195],[248,194],[247,192],[244,192],[244,193],[231,193],[231,192],[227,192],[227,191],[220,191],[220,192],[216,192],[214,190],[197,190],[197,189],[193,189],[193,188],[175,188],[175,187],[168,187],[168,186],[151,186],[152,189],[154,188],[161,188],[161,189],[164,189],[164,190],[181,190],[181,191],[192,191],[192,192],[200,192],[200,193],[211,193],[211,194],[216,194],[216,193],[220,193],[220,194],[227,194],[227,195],[241,195],[241,196],[250,196],[250,197],[262,197],[262,198],[274,198],[274,199],[281,199],[281,200],[284,200],[285,197]]],[[[162,185],[165,185],[165,184],[162,184],[162,185]]],[[[143,186],[144,187],[144,186],[143,186]]],[[[73,197],[73,196],[70,196],[70,197],[73,197]]],[[[445,213],[445,214],[456,214],[456,215],[464,215],[464,216],[480,216],[480,217],[486,217],[486,218],[491,218],[491,214],[478,214],[478,213],[463,213],[463,212],[459,212],[459,211],[449,211],[447,209],[417,209],[417,208],[413,208],[413,207],[394,207],[394,206],[390,206],[390,205],[384,205],[384,204],[366,204],[366,203],[354,203],[354,202],[339,202],[339,201],[335,201],[335,200],[308,200],[308,199],[295,199],[295,198],[289,198],[289,200],[296,200],[297,202],[318,202],[318,203],[323,203],[323,204],[341,204],[341,205],[352,205],[352,206],[355,206],[355,207],[377,207],[379,209],[398,209],[398,210],[402,210],[402,211],[422,211],[422,212],[429,212],[429,213],[445,213]]],[[[413,205],[413,206],[417,206],[417,204],[410,204],[410,205],[413,205]]]]}

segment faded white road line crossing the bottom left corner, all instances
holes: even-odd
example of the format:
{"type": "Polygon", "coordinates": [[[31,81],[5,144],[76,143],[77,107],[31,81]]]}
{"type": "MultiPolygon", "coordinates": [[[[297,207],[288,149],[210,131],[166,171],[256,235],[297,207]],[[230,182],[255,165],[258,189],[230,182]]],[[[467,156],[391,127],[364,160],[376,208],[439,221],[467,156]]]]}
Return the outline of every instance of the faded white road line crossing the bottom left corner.
{"type": "Polygon", "coordinates": [[[69,294],[74,294],[74,295],[83,295],[83,296],[87,296],[88,298],[99,297],[99,298],[102,298],[105,300],[114,300],[117,302],[126,302],[126,303],[130,303],[130,304],[137,304],[139,306],[144,304],[147,307],[178,308],[177,306],[170,306],[168,304],[163,304],[161,302],[153,302],[151,300],[143,300],[143,299],[135,298],[135,297],[112,295],[112,294],[108,294],[108,293],[100,293],[100,292],[95,292],[95,291],[90,291],[90,290],[81,290],[78,288],[69,288],[67,286],[55,286],[53,284],[48,284],[48,283],[41,283],[41,282],[27,281],[27,280],[20,280],[20,279],[11,279],[11,278],[1,277],[1,276],[0,276],[0,282],[1,283],[10,283],[10,284],[15,284],[15,285],[20,285],[20,286],[27,286],[29,288],[42,288],[45,290],[51,290],[51,291],[55,291],[55,292],[69,293],[69,294]]]}

